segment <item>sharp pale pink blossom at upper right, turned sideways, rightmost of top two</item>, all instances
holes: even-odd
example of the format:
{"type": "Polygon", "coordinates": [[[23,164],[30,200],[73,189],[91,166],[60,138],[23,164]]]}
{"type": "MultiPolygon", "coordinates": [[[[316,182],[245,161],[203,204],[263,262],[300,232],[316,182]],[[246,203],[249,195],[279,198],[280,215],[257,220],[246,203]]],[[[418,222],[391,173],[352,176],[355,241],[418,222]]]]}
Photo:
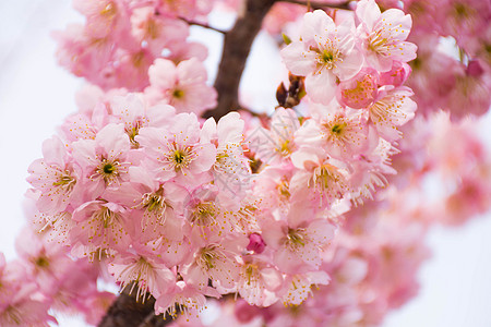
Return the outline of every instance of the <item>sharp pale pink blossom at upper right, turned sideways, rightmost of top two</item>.
{"type": "Polygon", "coordinates": [[[361,0],[356,10],[361,21],[358,27],[368,63],[380,72],[390,71],[394,61],[416,58],[416,45],[406,41],[411,29],[411,16],[402,10],[381,13],[374,0],[361,0]]]}

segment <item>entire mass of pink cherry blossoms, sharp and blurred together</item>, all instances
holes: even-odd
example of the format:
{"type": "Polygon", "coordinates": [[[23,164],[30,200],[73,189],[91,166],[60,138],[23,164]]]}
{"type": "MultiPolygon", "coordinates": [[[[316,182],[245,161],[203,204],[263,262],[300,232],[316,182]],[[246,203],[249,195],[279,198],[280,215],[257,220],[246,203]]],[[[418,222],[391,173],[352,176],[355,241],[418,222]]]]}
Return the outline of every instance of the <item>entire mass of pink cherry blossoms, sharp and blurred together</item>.
{"type": "Polygon", "coordinates": [[[112,299],[98,277],[193,326],[230,293],[211,300],[216,326],[372,326],[416,293],[428,228],[489,209],[491,159],[472,121],[452,122],[489,108],[477,39],[490,35],[474,37],[488,4],[270,1],[271,34],[301,17],[284,36],[279,106],[267,120],[239,108],[204,119],[218,94],[189,25],[252,2],[74,1],[86,23],[55,35],[58,58],[91,84],[28,168],[39,233],[24,232],[19,261],[0,257],[2,326],[47,326],[49,307],[96,324],[112,299]],[[446,35],[462,61],[435,49],[446,35]],[[430,172],[454,187],[415,205],[430,172]]]}

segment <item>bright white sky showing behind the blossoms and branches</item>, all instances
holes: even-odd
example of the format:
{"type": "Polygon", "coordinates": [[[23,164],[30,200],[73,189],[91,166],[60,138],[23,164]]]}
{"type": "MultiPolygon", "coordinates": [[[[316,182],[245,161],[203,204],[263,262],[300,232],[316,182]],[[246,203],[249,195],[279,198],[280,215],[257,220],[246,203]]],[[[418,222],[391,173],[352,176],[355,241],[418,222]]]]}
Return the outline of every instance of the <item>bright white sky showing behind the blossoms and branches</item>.
{"type": "MultiPolygon", "coordinates": [[[[22,201],[28,187],[27,167],[41,156],[43,141],[76,110],[74,94],[82,85],[57,65],[49,34],[81,21],[67,0],[0,0],[0,251],[8,259],[15,257],[14,240],[25,223],[22,201]]],[[[225,20],[219,26],[227,24],[225,20]]],[[[213,80],[220,36],[193,31],[193,38],[215,45],[206,62],[213,80]]],[[[277,50],[271,39],[261,35],[242,81],[243,96],[258,109],[275,105],[283,71],[274,56],[277,50]]],[[[434,255],[420,270],[419,296],[392,313],[383,327],[491,326],[490,234],[490,215],[463,228],[433,229],[427,241],[434,255]]],[[[60,326],[85,325],[60,319],[60,326]]]]}

